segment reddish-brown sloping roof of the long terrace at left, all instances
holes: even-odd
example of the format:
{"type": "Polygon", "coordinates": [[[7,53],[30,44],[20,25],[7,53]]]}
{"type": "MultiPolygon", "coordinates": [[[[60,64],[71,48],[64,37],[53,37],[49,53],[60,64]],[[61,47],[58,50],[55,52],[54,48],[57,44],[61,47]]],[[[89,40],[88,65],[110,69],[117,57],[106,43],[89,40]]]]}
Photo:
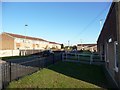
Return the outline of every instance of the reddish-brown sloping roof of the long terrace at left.
{"type": "Polygon", "coordinates": [[[30,37],[30,36],[23,36],[23,35],[6,33],[6,32],[4,32],[4,33],[5,33],[5,34],[8,34],[8,35],[10,35],[10,36],[12,36],[12,37],[16,37],[16,38],[26,38],[26,39],[31,39],[31,40],[40,40],[40,41],[48,42],[47,40],[44,40],[44,39],[41,39],[41,38],[30,37]]]}

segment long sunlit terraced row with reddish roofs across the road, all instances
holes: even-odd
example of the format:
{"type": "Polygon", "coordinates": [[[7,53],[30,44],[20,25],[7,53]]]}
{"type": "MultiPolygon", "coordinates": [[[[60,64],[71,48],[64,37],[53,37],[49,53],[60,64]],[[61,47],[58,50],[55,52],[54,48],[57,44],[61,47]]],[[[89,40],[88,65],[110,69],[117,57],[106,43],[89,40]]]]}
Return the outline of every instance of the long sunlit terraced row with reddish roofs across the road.
{"type": "Polygon", "coordinates": [[[0,35],[0,50],[45,50],[50,48],[61,49],[59,43],[51,42],[35,37],[3,32],[0,35]]]}

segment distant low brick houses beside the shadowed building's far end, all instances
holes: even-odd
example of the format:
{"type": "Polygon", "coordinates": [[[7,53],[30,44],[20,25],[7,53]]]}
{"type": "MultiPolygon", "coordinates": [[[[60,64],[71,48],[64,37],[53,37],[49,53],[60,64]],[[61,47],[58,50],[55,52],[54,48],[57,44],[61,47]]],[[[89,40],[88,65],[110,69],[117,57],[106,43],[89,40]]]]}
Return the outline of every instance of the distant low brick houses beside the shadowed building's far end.
{"type": "Polygon", "coordinates": [[[97,51],[97,44],[77,44],[77,50],[97,51]]]}

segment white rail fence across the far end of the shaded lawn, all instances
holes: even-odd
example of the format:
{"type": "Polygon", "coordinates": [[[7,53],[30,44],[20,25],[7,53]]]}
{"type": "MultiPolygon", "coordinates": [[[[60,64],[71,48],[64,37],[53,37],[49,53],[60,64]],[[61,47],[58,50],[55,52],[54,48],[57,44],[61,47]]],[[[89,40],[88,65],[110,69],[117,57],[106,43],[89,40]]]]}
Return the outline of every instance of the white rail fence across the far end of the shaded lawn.
{"type": "Polygon", "coordinates": [[[86,62],[92,64],[93,62],[101,62],[100,55],[97,54],[81,54],[81,53],[63,53],[63,61],[72,61],[72,62],[86,62]]]}

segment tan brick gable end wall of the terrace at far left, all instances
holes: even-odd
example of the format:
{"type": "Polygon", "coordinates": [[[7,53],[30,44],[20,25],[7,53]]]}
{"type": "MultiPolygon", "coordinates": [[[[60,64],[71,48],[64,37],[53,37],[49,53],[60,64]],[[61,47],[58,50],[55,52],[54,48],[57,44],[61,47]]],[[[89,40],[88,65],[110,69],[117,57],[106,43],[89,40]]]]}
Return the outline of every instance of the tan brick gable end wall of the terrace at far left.
{"type": "Polygon", "coordinates": [[[13,50],[14,49],[14,38],[7,35],[0,35],[0,50],[13,50]]]}

